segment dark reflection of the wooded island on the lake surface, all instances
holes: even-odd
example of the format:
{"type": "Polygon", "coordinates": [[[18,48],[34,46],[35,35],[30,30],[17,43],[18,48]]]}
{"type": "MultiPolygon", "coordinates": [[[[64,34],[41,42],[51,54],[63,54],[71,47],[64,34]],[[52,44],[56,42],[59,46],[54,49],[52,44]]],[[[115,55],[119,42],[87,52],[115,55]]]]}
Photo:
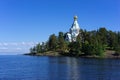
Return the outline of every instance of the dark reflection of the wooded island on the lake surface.
{"type": "Polygon", "coordinates": [[[119,80],[120,64],[111,59],[49,57],[50,80],[119,80]],[[117,65],[117,66],[115,66],[117,65]],[[116,68],[115,68],[116,67],[116,68]],[[117,70],[116,70],[117,69],[117,70]],[[112,75],[112,76],[111,76],[112,75]]]}

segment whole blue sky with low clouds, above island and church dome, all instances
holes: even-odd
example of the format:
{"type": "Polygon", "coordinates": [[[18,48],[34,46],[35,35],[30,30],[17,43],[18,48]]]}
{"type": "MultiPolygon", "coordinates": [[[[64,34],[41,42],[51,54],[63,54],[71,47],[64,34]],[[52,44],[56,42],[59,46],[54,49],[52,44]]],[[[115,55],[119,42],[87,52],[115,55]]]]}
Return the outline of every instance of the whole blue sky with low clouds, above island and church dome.
{"type": "Polygon", "coordinates": [[[81,29],[120,31],[120,0],[0,0],[0,52],[28,52],[51,34],[81,29]]]}

